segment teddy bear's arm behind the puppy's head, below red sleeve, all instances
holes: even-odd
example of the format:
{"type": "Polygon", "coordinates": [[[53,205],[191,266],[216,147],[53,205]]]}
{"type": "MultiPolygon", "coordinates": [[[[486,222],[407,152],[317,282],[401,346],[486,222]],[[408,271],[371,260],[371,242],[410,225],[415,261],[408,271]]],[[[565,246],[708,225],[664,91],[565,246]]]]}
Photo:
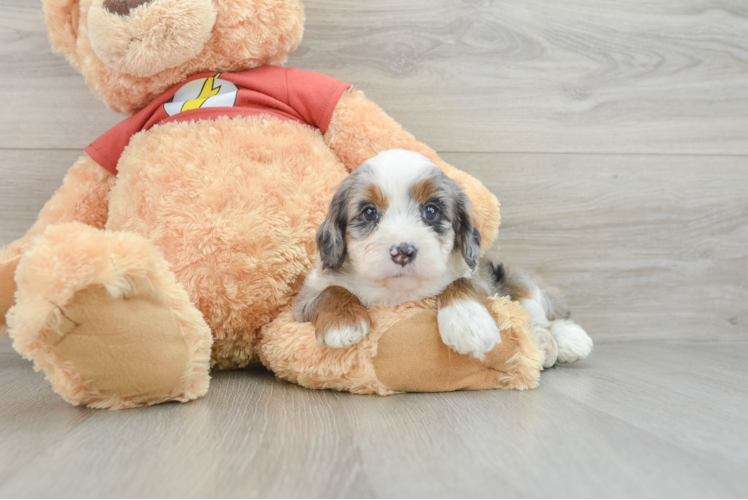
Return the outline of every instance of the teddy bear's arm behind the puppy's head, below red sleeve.
{"type": "Polygon", "coordinates": [[[387,149],[416,151],[433,161],[444,173],[465,189],[473,204],[475,226],[481,233],[482,252],[496,239],[499,228],[499,203],[480,181],[439,158],[436,152],[406,132],[363,92],[343,94],[335,107],[325,142],[349,171],[387,149]]]}

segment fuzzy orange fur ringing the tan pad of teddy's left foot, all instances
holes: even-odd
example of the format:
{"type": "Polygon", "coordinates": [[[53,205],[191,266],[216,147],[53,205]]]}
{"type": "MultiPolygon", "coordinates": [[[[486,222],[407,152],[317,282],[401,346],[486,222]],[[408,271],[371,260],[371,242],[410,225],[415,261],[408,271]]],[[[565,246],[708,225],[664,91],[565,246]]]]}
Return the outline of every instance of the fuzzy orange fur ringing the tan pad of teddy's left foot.
{"type": "Polygon", "coordinates": [[[81,223],[51,226],[34,243],[16,271],[18,301],[8,313],[8,327],[15,350],[33,360],[36,370],[45,371],[58,394],[71,404],[94,408],[189,401],[205,394],[210,380],[210,330],[152,245],[133,234],[106,233],[81,223]],[[188,356],[178,386],[147,399],[108,394],[81,378],[75,359],[55,354],[53,345],[64,335],[60,325],[67,318],[67,305],[78,292],[96,285],[123,300],[139,288],[155,291],[172,311],[188,356]]]}

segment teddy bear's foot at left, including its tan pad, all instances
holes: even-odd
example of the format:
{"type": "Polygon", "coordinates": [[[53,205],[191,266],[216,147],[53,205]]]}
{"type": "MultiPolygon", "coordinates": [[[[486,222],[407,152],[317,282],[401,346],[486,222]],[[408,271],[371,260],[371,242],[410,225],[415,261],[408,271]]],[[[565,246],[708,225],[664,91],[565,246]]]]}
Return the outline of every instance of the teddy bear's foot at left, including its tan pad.
{"type": "Polygon", "coordinates": [[[24,252],[13,347],[74,405],[188,401],[208,389],[211,332],[147,240],[54,225],[24,252]]]}

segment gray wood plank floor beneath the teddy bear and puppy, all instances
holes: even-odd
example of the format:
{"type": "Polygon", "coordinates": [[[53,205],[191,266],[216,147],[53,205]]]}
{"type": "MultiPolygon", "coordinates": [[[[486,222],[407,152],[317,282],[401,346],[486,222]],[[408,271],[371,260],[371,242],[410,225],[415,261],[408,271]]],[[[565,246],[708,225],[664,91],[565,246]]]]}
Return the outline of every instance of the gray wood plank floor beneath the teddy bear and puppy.
{"type": "Polygon", "coordinates": [[[746,359],[607,344],[536,391],[385,398],[222,372],[200,401],[111,412],[2,339],[0,497],[745,497],[746,359]]]}

